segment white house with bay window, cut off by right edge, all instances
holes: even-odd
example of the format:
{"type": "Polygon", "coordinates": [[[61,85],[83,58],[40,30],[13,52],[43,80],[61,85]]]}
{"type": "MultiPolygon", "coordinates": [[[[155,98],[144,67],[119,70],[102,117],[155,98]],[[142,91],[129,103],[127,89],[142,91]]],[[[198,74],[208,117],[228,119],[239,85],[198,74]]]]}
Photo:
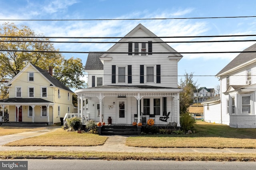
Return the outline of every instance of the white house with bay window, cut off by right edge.
{"type": "Polygon", "coordinates": [[[256,128],[256,44],[248,47],[216,75],[220,79],[222,124],[256,128]]]}

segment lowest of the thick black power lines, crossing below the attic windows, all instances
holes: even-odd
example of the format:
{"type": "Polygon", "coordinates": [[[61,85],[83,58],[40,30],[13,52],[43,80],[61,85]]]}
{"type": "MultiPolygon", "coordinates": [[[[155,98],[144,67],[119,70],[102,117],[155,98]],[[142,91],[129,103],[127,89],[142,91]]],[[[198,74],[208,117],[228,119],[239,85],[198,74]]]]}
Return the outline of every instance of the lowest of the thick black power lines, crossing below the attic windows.
{"type": "MultiPolygon", "coordinates": [[[[98,53],[98,54],[149,54],[128,52],[102,52],[102,51],[34,51],[34,50],[2,50],[7,52],[36,52],[36,53],[98,53]]],[[[152,52],[150,54],[216,54],[216,53],[256,53],[256,51],[206,51],[206,52],[152,52]]]]}

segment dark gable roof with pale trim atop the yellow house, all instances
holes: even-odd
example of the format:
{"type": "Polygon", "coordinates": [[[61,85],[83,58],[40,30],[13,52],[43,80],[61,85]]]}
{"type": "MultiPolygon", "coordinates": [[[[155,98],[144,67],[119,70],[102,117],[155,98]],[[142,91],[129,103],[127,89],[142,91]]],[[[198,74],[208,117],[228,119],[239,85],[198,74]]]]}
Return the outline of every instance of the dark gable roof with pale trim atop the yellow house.
{"type": "Polygon", "coordinates": [[[72,93],[74,93],[72,90],[70,90],[67,86],[65,86],[64,84],[62,84],[62,82],[60,82],[59,80],[57,80],[55,77],[51,76],[46,70],[43,70],[42,68],[34,65],[34,64],[31,64],[31,63],[28,63],[28,65],[26,65],[16,76],[14,76],[14,78],[12,78],[12,80],[10,80],[10,82],[8,82],[6,84],[6,86],[10,85],[15,79],[16,77],[18,77],[22,72],[25,72],[25,70],[28,68],[28,66],[31,65],[32,67],[34,67],[35,70],[37,70],[38,72],[40,72],[42,74],[42,76],[44,76],[48,81],[49,83],[52,85],[52,86],[56,86],[58,88],[62,88],[64,90],[67,90],[67,91],[70,91],[72,93]]]}

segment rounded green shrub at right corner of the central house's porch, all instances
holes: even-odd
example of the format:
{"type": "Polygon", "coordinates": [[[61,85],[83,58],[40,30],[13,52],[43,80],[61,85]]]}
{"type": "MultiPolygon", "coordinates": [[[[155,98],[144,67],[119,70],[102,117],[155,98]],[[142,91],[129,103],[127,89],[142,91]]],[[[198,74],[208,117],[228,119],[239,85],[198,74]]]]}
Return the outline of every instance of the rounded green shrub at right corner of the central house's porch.
{"type": "Polygon", "coordinates": [[[194,130],[195,119],[189,113],[180,115],[180,126],[183,131],[194,130]]]}

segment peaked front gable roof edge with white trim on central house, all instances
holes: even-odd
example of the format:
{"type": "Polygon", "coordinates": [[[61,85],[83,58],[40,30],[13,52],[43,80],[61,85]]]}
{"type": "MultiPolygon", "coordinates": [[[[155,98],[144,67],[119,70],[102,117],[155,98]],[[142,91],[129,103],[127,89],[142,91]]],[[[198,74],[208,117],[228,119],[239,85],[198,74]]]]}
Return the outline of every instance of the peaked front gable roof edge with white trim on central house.
{"type": "MultiPolygon", "coordinates": [[[[138,24],[134,29],[132,29],[132,31],[130,31],[128,34],[126,34],[126,35],[124,36],[124,38],[120,39],[120,41],[118,41],[118,42],[125,42],[125,41],[127,40],[125,37],[132,37],[132,35],[134,35],[134,33],[135,33],[136,31],[138,31],[138,29],[142,29],[145,33],[147,33],[149,38],[150,38],[150,37],[155,37],[155,38],[153,38],[155,41],[157,41],[157,42],[162,42],[162,43],[161,43],[162,46],[164,46],[167,50],[176,53],[176,54],[172,54],[171,57],[180,57],[180,59],[183,57],[183,56],[182,56],[181,54],[179,54],[176,50],[174,50],[174,49],[173,49],[172,47],[170,47],[167,43],[165,43],[162,39],[157,38],[157,36],[156,36],[154,33],[152,33],[149,29],[147,29],[146,27],[144,27],[141,23],[138,24]],[[177,53],[178,53],[178,54],[177,54],[177,53]]],[[[107,52],[112,52],[112,51],[114,51],[114,49],[116,49],[117,47],[119,47],[120,44],[121,44],[121,43],[116,43],[116,44],[113,45],[110,49],[108,49],[107,52]]],[[[102,55],[102,58],[103,58],[103,57],[106,57],[107,55],[108,55],[108,54],[105,53],[104,55],[102,55]]],[[[178,61],[179,61],[180,59],[178,59],[178,61]]]]}

